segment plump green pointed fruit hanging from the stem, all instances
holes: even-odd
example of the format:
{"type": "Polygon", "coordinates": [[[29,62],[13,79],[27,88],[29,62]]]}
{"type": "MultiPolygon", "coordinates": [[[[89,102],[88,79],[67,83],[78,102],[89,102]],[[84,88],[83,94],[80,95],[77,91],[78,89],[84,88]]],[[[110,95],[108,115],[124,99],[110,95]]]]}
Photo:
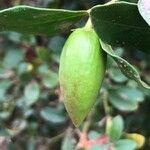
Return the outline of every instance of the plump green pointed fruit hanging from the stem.
{"type": "Polygon", "coordinates": [[[76,29],[60,58],[59,81],[64,104],[78,127],[92,108],[105,74],[106,55],[93,29],[76,29]]]}

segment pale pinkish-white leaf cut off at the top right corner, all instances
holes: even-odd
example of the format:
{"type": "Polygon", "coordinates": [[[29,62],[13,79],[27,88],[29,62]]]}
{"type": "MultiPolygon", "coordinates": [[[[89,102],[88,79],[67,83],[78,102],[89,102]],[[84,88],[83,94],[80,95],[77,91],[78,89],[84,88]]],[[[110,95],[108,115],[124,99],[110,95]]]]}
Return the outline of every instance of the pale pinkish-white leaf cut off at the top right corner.
{"type": "Polygon", "coordinates": [[[139,0],[138,9],[144,20],[150,25],[150,1],[139,0]]]}

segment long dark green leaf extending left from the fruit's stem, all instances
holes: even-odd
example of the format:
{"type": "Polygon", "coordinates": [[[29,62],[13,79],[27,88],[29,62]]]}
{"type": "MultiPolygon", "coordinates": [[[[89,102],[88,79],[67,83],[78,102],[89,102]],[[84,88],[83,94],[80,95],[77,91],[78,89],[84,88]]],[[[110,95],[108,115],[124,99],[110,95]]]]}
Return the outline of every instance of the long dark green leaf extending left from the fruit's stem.
{"type": "Polygon", "coordinates": [[[53,35],[84,16],[87,16],[86,11],[16,6],[0,11],[0,31],[53,35]]]}

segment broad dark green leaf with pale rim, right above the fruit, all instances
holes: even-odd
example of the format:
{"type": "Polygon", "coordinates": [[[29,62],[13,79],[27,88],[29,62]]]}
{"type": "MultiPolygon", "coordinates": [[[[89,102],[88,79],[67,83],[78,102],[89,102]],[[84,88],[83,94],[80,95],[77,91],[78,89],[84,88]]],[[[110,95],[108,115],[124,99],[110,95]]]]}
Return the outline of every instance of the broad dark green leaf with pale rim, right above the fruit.
{"type": "Polygon", "coordinates": [[[139,14],[137,4],[122,1],[97,5],[90,10],[90,17],[104,42],[150,53],[150,27],[139,14]]]}

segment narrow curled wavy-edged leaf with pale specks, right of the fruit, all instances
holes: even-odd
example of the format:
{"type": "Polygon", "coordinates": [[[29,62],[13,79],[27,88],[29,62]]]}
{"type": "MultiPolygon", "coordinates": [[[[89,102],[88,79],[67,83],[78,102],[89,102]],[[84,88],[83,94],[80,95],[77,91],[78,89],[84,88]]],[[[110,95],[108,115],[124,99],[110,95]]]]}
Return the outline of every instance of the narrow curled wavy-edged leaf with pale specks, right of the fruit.
{"type": "Polygon", "coordinates": [[[117,56],[110,45],[106,44],[101,40],[101,46],[103,50],[116,61],[118,67],[126,77],[135,80],[140,86],[150,90],[150,86],[142,81],[138,71],[125,59],[117,56]]]}

